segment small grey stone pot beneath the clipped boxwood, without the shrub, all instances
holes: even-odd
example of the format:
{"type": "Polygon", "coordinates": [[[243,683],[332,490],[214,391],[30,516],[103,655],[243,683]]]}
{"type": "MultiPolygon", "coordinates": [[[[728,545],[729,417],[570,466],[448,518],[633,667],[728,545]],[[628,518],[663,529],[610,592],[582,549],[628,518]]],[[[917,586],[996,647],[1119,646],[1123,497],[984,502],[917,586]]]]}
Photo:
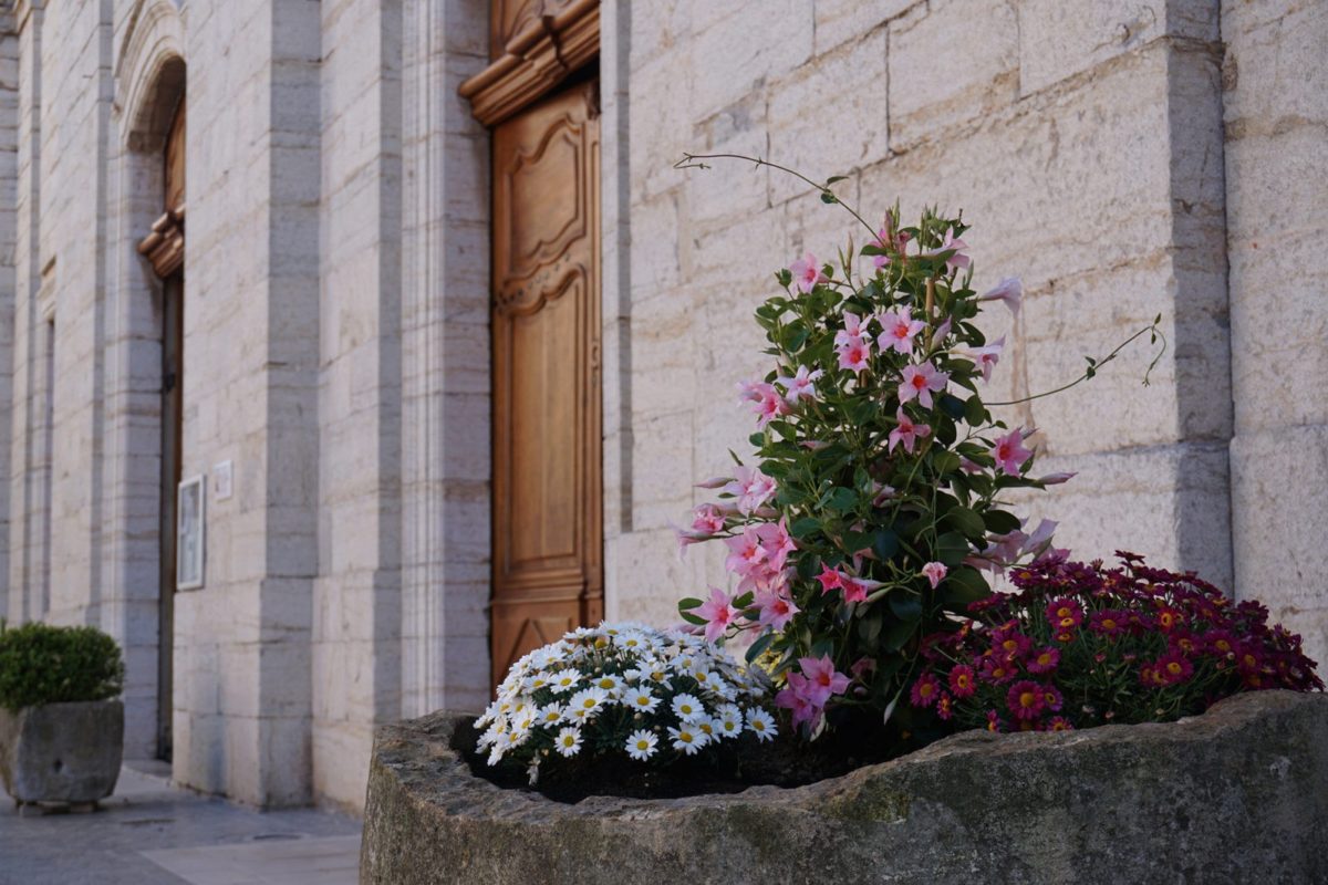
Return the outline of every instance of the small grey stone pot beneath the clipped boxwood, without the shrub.
{"type": "Polygon", "coordinates": [[[20,804],[88,804],[116,789],[125,751],[120,701],[0,709],[0,779],[20,804]]]}

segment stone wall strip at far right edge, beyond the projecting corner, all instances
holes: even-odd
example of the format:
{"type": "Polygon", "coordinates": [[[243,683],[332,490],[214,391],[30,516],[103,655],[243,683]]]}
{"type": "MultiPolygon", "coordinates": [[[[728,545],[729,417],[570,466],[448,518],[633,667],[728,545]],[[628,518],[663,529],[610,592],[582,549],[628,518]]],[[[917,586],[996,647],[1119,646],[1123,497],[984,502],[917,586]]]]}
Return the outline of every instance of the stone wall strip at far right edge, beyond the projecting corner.
{"type": "Polygon", "coordinates": [[[1236,593],[1328,666],[1328,4],[1222,4],[1236,593]]]}

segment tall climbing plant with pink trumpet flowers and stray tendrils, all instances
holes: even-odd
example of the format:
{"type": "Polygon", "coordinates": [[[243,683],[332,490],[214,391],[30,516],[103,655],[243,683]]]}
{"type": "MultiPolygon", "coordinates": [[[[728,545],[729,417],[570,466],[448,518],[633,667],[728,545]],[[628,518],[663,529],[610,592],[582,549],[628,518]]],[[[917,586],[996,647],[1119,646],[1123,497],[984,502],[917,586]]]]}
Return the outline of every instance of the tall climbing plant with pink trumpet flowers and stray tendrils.
{"type": "MultiPolygon", "coordinates": [[[[774,167],[839,203],[837,179],[774,167]]],[[[981,394],[1005,342],[976,320],[993,301],[1017,313],[1019,280],[973,288],[959,216],[927,211],[906,226],[895,207],[876,230],[845,208],[871,240],[850,241],[838,267],[807,253],[776,275],[782,292],[756,310],[773,365],[738,386],[754,413],[754,463],[701,483],[718,500],[679,532],[684,547],[725,544],[737,581],[683,600],[683,617],[710,640],[756,634],[749,659],[769,657],[785,681],[776,703],[809,734],[833,707],[888,719],[919,638],[988,596],[984,571],[1050,548],[1054,523],[1025,532],[1003,495],[1069,478],[1032,475],[1032,430],[996,419],[988,407],[1012,403],[981,394]]],[[[1141,334],[1155,341],[1159,320],[1088,358],[1078,381],[1141,334]]]]}

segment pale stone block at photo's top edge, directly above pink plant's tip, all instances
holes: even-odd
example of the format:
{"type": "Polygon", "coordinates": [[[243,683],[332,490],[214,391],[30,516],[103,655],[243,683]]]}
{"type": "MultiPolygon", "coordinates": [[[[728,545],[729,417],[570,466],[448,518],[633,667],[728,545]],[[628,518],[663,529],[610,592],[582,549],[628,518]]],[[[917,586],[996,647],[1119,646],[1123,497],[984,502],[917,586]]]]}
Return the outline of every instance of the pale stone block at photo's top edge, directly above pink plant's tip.
{"type": "Polygon", "coordinates": [[[890,25],[890,146],[907,149],[1019,97],[1019,21],[1004,0],[890,25]]]}

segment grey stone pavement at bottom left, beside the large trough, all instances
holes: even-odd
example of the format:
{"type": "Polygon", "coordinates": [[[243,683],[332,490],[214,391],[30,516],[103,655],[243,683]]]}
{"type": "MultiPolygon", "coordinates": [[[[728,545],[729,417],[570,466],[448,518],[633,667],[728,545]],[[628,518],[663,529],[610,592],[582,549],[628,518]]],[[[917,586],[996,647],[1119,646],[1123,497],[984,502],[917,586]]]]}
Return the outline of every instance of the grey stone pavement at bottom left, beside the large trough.
{"type": "Polygon", "coordinates": [[[20,816],[0,796],[0,885],[353,885],[360,821],[259,812],[175,789],[162,763],[126,763],[88,815],[20,816]]]}

